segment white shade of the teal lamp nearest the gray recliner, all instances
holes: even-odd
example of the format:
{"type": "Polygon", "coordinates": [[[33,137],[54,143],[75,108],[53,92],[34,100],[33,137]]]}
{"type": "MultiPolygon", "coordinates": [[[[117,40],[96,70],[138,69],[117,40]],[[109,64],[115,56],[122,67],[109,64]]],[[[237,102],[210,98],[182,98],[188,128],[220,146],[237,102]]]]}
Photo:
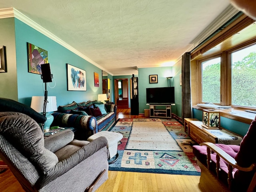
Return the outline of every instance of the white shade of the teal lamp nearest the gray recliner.
{"type": "MultiPolygon", "coordinates": [[[[53,112],[57,110],[56,96],[48,96],[46,104],[46,112],[53,112]]],[[[44,110],[44,96],[32,96],[30,107],[38,113],[44,110]]]]}

